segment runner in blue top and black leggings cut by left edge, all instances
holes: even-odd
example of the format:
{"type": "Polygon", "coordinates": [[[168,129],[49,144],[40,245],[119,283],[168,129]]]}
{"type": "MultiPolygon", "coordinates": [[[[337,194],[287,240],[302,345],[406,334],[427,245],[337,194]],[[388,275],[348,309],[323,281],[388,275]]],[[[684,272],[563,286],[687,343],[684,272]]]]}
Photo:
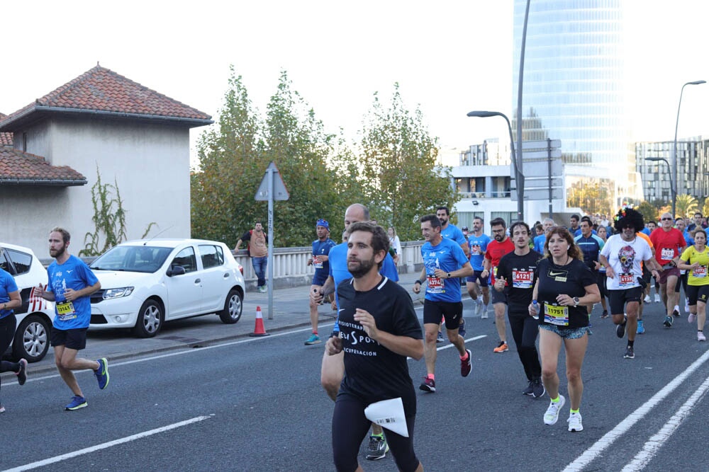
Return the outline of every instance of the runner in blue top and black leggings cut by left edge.
{"type": "MultiPolygon", "coordinates": [[[[0,258],[2,258],[0,250],[0,258]]],[[[17,328],[17,319],[14,309],[22,306],[22,298],[17,288],[15,279],[9,272],[0,268],[0,357],[4,354],[12,342],[17,328]]],[[[0,360],[0,372],[14,372],[17,382],[24,385],[27,380],[27,360],[20,359],[20,362],[9,362],[0,360]]],[[[5,407],[0,402],[0,413],[5,413],[5,407]]]]}

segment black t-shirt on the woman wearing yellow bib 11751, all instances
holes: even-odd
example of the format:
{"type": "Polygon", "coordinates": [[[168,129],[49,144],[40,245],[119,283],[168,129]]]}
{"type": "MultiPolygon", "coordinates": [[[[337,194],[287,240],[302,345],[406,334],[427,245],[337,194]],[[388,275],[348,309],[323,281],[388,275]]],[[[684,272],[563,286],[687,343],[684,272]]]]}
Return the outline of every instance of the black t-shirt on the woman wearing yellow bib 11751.
{"type": "Polygon", "coordinates": [[[551,258],[544,258],[537,264],[539,290],[537,301],[540,304],[540,324],[550,324],[560,329],[582,328],[588,326],[586,306],[559,306],[559,294],[569,297],[584,297],[586,288],[596,284],[596,275],[588,265],[578,259],[572,259],[566,265],[556,265],[551,258]]]}

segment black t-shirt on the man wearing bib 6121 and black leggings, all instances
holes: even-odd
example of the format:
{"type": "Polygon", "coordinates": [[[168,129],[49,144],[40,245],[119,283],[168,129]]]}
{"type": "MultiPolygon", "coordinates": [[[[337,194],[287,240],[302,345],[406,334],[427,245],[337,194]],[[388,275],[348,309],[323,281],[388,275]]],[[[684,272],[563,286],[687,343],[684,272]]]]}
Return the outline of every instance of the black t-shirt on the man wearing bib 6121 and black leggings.
{"type": "Polygon", "coordinates": [[[505,297],[510,316],[520,312],[529,316],[527,308],[532,303],[532,292],[537,281],[537,263],[542,257],[537,251],[530,251],[525,255],[507,253],[500,259],[497,277],[505,277],[507,281],[505,297]]]}

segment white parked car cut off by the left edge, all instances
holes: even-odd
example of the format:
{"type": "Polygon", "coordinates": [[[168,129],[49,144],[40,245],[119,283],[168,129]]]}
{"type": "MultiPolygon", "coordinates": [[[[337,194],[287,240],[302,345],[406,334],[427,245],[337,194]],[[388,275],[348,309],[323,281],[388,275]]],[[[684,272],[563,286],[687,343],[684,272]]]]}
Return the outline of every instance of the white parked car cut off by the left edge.
{"type": "Polygon", "coordinates": [[[30,248],[0,243],[0,267],[15,278],[22,306],[15,309],[17,329],[7,352],[13,359],[42,360],[49,350],[54,302],[34,297],[38,284],[47,284],[47,270],[30,248]]]}

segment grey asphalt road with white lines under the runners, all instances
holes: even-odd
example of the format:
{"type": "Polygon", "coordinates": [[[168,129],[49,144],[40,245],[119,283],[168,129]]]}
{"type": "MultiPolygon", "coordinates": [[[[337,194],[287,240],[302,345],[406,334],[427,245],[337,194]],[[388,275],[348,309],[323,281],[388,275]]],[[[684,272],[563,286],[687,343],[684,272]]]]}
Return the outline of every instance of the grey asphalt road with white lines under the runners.
{"type": "MultiPolygon", "coordinates": [[[[470,301],[466,306],[470,313],[470,301]]],[[[566,408],[557,425],[547,426],[548,397],[521,395],[526,382],[515,348],[492,352],[492,317],[468,318],[471,376],[459,375],[456,352],[444,343],[437,392],[417,391],[415,449],[426,470],[708,470],[708,344],[696,341],[685,317],[661,326],[659,304],[648,306],[645,319],[647,333],[637,337],[630,360],[623,359],[625,343],[610,318],[593,313],[584,431],[571,433],[566,408]]],[[[330,323],[321,326],[329,329],[330,323]]],[[[284,328],[266,338],[113,360],[106,391],[90,372],[78,374],[89,407],[75,412],[63,410],[71,393],[54,372],[38,369],[23,387],[4,376],[0,468],[333,470],[333,403],[319,383],[323,345],[304,346],[307,334],[308,328],[284,328]]],[[[418,386],[423,360],[409,366],[418,386]]],[[[566,394],[563,356],[559,371],[566,394]]],[[[390,456],[362,466],[396,470],[390,456]]]]}

